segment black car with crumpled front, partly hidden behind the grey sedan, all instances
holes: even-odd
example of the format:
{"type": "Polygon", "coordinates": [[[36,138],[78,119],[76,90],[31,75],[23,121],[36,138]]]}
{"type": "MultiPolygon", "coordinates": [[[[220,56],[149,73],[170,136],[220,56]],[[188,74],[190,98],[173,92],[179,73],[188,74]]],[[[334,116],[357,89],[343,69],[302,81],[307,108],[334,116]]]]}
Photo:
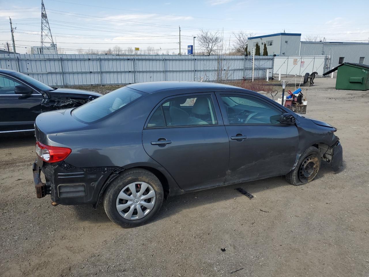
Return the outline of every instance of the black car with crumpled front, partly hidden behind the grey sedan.
{"type": "Polygon", "coordinates": [[[38,114],[77,107],[99,96],[86,90],[51,88],[23,73],[0,69],[0,133],[33,131],[38,114]]]}

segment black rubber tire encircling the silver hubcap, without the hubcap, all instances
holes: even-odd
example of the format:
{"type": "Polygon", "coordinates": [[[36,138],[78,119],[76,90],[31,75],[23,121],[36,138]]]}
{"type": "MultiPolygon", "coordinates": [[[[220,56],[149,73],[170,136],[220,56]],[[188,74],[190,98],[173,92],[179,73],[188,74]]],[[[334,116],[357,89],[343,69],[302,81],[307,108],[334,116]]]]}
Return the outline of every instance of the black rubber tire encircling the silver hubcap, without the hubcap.
{"type": "Polygon", "coordinates": [[[163,199],[164,192],[159,179],[148,170],[133,168],[123,171],[120,176],[111,182],[104,194],[103,205],[105,212],[111,221],[123,228],[131,228],[143,225],[153,218],[161,208],[163,199]],[[154,208],[152,208],[151,211],[149,211],[149,213],[143,218],[131,220],[123,218],[123,216],[117,211],[117,197],[123,188],[134,182],[145,182],[152,187],[155,191],[155,204],[154,208]]]}

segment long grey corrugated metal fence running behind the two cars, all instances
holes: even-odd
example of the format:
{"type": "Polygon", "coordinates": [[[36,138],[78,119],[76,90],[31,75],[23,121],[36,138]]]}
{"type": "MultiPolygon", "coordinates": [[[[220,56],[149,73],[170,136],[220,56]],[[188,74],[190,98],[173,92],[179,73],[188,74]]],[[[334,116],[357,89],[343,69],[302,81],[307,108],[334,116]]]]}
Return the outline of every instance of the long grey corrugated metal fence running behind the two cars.
{"type": "MultiPolygon", "coordinates": [[[[50,86],[114,85],[150,81],[252,78],[252,57],[0,54],[0,68],[17,70],[50,86]]],[[[255,78],[273,69],[273,57],[255,56],[255,78]]]]}

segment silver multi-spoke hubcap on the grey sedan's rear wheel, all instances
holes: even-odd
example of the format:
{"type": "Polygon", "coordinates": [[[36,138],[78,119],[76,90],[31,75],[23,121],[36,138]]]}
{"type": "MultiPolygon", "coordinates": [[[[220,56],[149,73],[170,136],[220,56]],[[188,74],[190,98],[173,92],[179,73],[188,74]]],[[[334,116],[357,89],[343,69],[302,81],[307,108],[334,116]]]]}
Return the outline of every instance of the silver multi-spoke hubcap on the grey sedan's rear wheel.
{"type": "Polygon", "coordinates": [[[125,186],[117,197],[117,211],[125,219],[136,220],[146,216],[155,205],[155,191],[145,182],[125,186]]]}

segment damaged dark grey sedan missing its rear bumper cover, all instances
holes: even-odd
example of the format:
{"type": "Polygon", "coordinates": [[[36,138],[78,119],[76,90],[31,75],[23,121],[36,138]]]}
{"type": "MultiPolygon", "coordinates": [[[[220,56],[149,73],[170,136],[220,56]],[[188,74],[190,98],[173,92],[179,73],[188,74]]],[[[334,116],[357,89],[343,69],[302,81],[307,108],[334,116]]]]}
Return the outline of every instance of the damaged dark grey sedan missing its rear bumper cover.
{"type": "Polygon", "coordinates": [[[167,196],[279,175],[301,185],[322,159],[337,171],[335,131],[234,86],[128,85],[37,117],[37,197],[50,194],[53,205],[102,202],[113,222],[137,226],[167,196]]]}

